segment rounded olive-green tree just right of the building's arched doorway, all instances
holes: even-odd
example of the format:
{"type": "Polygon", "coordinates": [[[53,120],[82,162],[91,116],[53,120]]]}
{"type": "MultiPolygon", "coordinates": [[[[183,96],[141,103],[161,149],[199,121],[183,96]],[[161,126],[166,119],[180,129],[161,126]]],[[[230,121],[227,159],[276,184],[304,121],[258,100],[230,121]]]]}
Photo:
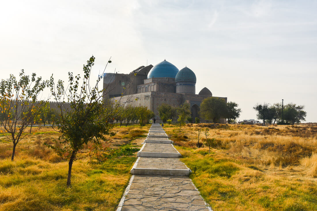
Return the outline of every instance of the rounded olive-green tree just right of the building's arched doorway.
{"type": "Polygon", "coordinates": [[[200,113],[204,119],[218,123],[220,118],[228,116],[227,103],[218,97],[208,97],[200,104],[200,113]]]}

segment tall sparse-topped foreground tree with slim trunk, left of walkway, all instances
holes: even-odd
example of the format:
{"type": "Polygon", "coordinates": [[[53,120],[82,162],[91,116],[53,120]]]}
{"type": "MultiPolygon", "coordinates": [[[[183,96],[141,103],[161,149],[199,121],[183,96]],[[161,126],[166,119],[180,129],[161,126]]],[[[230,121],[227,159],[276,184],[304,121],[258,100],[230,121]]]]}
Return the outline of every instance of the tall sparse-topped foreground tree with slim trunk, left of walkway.
{"type": "MultiPolygon", "coordinates": [[[[66,90],[62,80],[58,80],[55,85],[53,75],[49,81],[52,96],[59,109],[55,114],[55,121],[60,136],[59,140],[54,141],[63,144],[63,148],[47,146],[69,158],[67,186],[71,184],[71,170],[76,154],[83,149],[84,144],[88,141],[97,144],[100,140],[106,141],[105,135],[115,134],[110,131],[113,127],[110,121],[117,115],[119,102],[116,104],[109,101],[102,102],[103,96],[109,91],[107,88],[104,90],[98,88],[103,73],[98,76],[93,86],[90,85],[94,60],[94,56],[90,57],[87,65],[83,66],[82,76],[80,74],[74,76],[72,72],[68,72],[69,83],[66,90]],[[65,99],[69,102],[69,107],[65,106],[65,99]]],[[[109,60],[107,65],[110,62],[109,60]]]]}

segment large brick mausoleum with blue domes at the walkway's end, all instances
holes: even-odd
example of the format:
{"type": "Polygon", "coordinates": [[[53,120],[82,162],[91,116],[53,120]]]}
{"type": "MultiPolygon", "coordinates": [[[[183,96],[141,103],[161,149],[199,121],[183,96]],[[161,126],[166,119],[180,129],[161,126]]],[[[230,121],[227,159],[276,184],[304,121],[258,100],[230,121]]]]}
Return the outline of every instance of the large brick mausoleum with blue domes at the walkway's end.
{"type": "MultiPolygon", "coordinates": [[[[212,93],[204,87],[197,95],[195,85],[196,75],[191,69],[178,70],[166,60],[154,66],[140,66],[129,74],[104,73],[103,77],[103,88],[110,90],[105,98],[121,100],[126,105],[146,106],[157,120],[161,103],[177,107],[186,102],[190,104],[193,120],[200,118],[200,103],[212,97],[212,93]]],[[[227,97],[219,98],[227,102],[227,97]]],[[[226,119],[220,119],[220,123],[226,123],[226,119]]]]}

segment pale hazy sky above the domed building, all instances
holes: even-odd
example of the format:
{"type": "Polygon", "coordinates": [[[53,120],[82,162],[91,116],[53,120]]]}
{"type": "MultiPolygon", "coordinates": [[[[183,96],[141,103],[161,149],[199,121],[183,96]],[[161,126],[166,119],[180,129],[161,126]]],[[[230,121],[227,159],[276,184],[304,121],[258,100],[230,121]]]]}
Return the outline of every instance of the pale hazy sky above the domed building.
{"type": "Polygon", "coordinates": [[[317,1],[3,1],[0,79],[35,72],[68,81],[164,59],[256,119],[256,103],[305,105],[317,122],[317,1]]]}

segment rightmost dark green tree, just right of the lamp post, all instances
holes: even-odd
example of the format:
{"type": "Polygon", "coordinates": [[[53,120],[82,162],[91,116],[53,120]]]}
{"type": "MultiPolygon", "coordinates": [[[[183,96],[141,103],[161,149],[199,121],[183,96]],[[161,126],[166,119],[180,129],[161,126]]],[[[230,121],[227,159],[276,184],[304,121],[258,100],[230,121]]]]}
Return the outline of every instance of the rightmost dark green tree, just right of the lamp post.
{"type": "Polygon", "coordinates": [[[284,120],[286,124],[301,123],[301,121],[305,121],[305,117],[307,112],[303,109],[305,106],[303,105],[296,105],[295,103],[288,103],[285,105],[284,109],[284,120]]]}

